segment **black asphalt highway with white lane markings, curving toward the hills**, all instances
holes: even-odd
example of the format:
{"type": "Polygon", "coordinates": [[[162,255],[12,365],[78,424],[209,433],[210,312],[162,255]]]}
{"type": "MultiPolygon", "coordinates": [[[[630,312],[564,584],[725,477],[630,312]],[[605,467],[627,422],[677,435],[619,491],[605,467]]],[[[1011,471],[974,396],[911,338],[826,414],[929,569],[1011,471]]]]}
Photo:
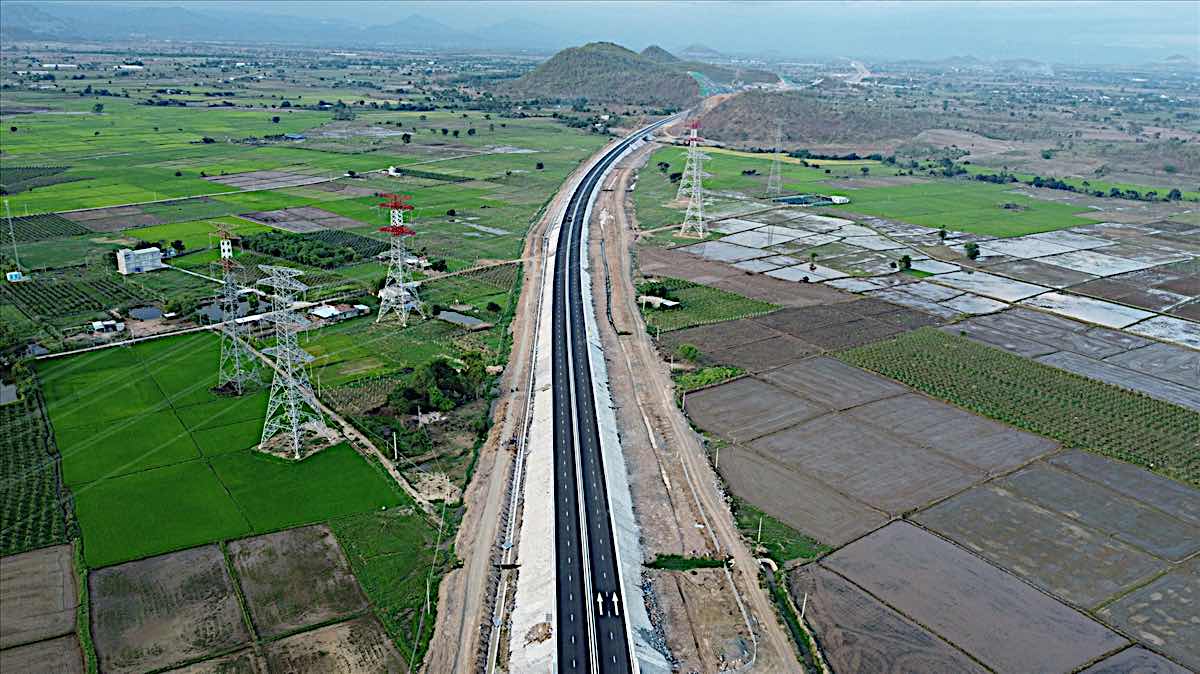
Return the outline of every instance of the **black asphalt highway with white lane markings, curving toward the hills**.
{"type": "Polygon", "coordinates": [[[554,550],[558,670],[635,670],[625,626],[584,324],[581,255],[588,204],[610,166],[666,124],[613,145],[580,181],[559,227],[553,288],[554,550]],[[582,526],[581,526],[582,523],[582,526]]]}

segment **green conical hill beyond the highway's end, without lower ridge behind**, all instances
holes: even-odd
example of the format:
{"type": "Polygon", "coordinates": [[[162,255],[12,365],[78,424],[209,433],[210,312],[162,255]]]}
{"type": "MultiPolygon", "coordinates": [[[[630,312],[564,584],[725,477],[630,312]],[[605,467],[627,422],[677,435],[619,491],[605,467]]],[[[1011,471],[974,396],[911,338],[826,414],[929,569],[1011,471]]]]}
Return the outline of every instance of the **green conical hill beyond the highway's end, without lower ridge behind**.
{"type": "Polygon", "coordinates": [[[593,42],[563,49],[533,72],[504,85],[500,94],[684,108],[700,100],[700,85],[685,70],[619,44],[593,42]]]}

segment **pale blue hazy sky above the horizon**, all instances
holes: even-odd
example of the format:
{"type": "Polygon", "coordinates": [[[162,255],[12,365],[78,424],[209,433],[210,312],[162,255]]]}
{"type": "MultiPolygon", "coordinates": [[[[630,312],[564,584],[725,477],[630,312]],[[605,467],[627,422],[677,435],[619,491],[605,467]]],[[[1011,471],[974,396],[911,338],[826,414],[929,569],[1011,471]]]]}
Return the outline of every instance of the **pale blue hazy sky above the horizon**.
{"type": "MultiPolygon", "coordinates": [[[[608,40],[641,49],[692,42],[731,53],[863,59],[1032,58],[1144,62],[1200,58],[1200,2],[1117,1],[163,1],[384,24],[418,13],[464,31],[502,22],[538,24],[530,47],[608,40]]],[[[511,29],[511,26],[510,26],[511,29]]]]}

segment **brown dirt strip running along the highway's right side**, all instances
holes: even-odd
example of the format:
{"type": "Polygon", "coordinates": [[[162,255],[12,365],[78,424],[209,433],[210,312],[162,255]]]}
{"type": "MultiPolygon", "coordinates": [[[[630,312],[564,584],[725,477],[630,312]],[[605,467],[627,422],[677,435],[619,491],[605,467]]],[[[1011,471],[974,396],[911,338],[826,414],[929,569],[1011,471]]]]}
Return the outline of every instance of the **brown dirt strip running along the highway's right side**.
{"type": "Polygon", "coordinates": [[[742,542],[697,437],[674,404],[667,366],[636,308],[637,227],[628,188],[652,150],[647,146],[622,161],[593,209],[594,217],[604,219],[602,227],[595,222],[592,228],[593,278],[622,451],[646,559],[728,555],[733,562],[726,570],[649,571],[648,609],[679,670],[730,670],[752,661],[755,672],[799,672],[791,640],[758,584],[757,561],[742,542]]]}

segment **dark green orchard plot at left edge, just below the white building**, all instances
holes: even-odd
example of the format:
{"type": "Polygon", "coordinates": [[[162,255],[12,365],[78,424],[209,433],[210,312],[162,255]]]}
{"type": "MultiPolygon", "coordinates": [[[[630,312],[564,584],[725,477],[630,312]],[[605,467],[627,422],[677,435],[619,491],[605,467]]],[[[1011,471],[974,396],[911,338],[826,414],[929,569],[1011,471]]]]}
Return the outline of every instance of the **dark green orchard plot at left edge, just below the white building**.
{"type": "Polygon", "coordinates": [[[0,300],[16,305],[25,315],[54,319],[122,307],[144,297],[138,287],[107,276],[38,275],[32,281],[4,284],[0,300]]]}

